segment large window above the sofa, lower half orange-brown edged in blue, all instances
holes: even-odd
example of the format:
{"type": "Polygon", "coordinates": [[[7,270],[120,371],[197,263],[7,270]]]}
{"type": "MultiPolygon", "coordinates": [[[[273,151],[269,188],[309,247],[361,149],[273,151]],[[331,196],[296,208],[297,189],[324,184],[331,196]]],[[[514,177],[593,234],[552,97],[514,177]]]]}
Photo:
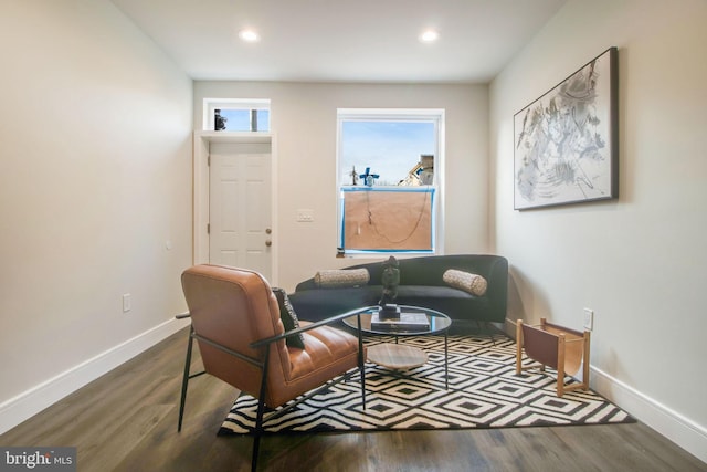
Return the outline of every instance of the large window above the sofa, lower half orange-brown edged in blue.
{"type": "Polygon", "coordinates": [[[339,252],[434,253],[444,112],[339,109],[337,116],[339,252]]]}

